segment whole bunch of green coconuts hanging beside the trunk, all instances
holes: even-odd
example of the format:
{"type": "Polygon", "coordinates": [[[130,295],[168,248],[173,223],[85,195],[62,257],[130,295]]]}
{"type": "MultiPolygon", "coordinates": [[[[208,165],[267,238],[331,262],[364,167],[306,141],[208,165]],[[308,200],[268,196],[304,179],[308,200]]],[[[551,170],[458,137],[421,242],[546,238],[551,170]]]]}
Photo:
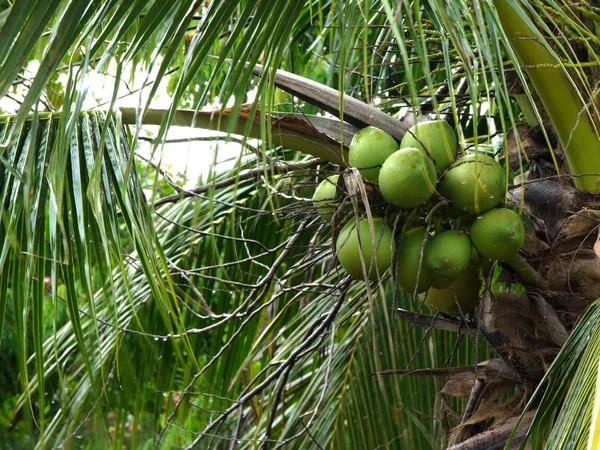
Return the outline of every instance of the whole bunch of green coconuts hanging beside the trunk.
{"type": "MultiPolygon", "coordinates": [[[[400,145],[367,127],[353,138],[348,160],[381,196],[380,217],[347,220],[337,257],[356,279],[374,280],[397,261],[397,284],[451,316],[477,306],[491,261],[518,264],[525,240],[521,217],[502,207],[505,169],[485,153],[457,159],[454,130],[442,120],[413,126],[400,145]]],[[[339,175],[317,187],[313,202],[331,221],[339,205],[339,175]]]]}

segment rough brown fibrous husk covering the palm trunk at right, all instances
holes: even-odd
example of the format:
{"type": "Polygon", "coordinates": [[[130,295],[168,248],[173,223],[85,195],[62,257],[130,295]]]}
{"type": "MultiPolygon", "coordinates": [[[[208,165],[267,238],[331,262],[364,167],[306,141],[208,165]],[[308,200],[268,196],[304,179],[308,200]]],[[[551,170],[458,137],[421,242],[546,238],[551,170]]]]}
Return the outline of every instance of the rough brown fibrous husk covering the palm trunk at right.
{"type": "MultiPolygon", "coordinates": [[[[487,290],[477,315],[479,332],[516,373],[524,389],[521,400],[543,377],[579,315],[600,297],[600,196],[558,175],[549,153],[540,150],[539,131],[526,136],[525,144],[537,161],[517,177],[510,198],[531,219],[521,254],[547,284],[526,286],[526,293],[487,290]]],[[[522,283],[511,273],[503,270],[503,281],[522,283]]],[[[486,388],[486,381],[475,377],[449,378],[443,393],[468,391],[469,402],[448,450],[504,448],[523,403],[517,397],[504,403],[488,398],[486,388]]],[[[525,415],[511,448],[519,448],[531,417],[525,415]]]]}

